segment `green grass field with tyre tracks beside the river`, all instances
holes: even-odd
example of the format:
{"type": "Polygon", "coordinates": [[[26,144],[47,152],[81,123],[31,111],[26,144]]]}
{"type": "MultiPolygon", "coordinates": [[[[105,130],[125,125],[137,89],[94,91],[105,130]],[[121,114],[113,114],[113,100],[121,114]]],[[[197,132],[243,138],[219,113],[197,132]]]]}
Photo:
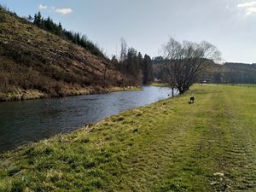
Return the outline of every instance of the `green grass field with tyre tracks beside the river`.
{"type": "Polygon", "coordinates": [[[0,191],[256,191],[255,109],[255,87],[195,85],[0,154],[0,191]]]}

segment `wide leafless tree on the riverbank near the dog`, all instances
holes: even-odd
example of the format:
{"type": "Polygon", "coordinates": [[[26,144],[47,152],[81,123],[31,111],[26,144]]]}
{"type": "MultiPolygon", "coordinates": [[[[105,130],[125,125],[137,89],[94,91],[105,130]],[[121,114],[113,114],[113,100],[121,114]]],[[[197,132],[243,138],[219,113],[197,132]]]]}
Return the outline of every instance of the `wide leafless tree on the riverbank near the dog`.
{"type": "Polygon", "coordinates": [[[220,53],[206,41],[200,44],[170,40],[163,46],[163,58],[165,63],[162,67],[163,80],[172,88],[183,94],[195,83],[195,79],[211,61],[217,61],[220,53]]]}

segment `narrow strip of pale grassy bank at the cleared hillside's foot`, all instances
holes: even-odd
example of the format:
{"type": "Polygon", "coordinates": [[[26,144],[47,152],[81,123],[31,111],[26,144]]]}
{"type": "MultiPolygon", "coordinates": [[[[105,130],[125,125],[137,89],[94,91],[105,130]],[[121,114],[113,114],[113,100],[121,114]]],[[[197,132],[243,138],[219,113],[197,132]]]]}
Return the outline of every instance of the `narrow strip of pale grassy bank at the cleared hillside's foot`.
{"type": "Polygon", "coordinates": [[[26,100],[35,100],[42,98],[50,98],[50,97],[64,97],[64,96],[82,96],[82,95],[91,95],[91,94],[104,94],[108,92],[117,92],[124,90],[141,90],[140,87],[137,86],[126,86],[126,87],[87,87],[87,88],[76,88],[69,87],[62,91],[61,93],[55,93],[54,95],[49,95],[39,90],[21,90],[15,89],[15,91],[9,93],[1,93],[0,92],[0,102],[19,102],[26,100]]]}

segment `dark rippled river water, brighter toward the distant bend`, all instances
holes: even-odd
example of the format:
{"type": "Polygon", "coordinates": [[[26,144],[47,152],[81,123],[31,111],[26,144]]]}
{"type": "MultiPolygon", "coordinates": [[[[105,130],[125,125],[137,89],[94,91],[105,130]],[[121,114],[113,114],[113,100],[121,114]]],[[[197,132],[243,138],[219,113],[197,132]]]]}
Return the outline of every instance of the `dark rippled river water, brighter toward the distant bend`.
{"type": "MultiPolygon", "coordinates": [[[[176,93],[177,94],[177,93],[176,93]]],[[[0,152],[36,142],[61,132],[70,132],[126,109],[145,106],[171,96],[168,88],[104,95],[70,96],[26,102],[0,103],[0,152]]]]}

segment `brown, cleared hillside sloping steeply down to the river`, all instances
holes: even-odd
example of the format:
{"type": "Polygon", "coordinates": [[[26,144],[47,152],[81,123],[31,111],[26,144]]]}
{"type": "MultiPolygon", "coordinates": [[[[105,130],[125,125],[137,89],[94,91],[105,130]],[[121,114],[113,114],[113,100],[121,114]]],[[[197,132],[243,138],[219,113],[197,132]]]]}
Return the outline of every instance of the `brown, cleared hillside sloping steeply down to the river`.
{"type": "Polygon", "coordinates": [[[123,87],[110,61],[0,8],[0,101],[123,87]]]}

